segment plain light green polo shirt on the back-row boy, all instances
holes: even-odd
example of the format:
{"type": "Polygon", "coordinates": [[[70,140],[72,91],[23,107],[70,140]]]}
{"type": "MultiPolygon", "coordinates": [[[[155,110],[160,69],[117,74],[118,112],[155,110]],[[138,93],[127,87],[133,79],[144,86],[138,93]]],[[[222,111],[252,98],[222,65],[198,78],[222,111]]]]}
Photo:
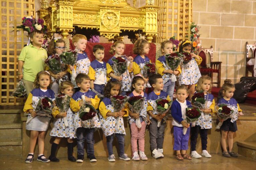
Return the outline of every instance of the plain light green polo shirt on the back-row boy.
{"type": "Polygon", "coordinates": [[[25,46],[19,56],[23,64],[23,79],[34,82],[36,74],[44,70],[44,60],[47,59],[47,51],[42,47],[37,49],[32,44],[25,46]]]}

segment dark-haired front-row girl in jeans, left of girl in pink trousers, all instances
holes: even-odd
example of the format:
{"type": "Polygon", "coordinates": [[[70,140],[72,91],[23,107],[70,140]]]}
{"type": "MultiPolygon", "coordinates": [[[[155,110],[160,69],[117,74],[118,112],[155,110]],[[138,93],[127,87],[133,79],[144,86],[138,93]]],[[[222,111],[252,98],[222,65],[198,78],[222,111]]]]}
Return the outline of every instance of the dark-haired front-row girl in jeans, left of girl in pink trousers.
{"type": "Polygon", "coordinates": [[[127,154],[124,153],[124,135],[126,135],[126,133],[123,116],[128,116],[127,106],[125,106],[121,112],[114,112],[113,105],[110,100],[111,96],[119,95],[121,93],[120,88],[121,83],[118,80],[110,79],[104,88],[105,98],[100,102],[99,106],[101,128],[107,138],[107,148],[109,154],[108,160],[110,162],[115,161],[112,146],[114,134],[118,140],[119,158],[125,161],[130,160],[127,154]],[[117,127],[117,121],[119,121],[119,127],[117,127]]]}

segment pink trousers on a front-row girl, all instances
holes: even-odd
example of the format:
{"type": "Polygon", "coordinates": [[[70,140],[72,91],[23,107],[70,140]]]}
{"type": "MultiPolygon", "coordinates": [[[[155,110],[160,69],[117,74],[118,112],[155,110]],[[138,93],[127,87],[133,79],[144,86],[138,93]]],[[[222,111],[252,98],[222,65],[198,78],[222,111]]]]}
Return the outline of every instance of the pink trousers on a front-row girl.
{"type": "Polygon", "coordinates": [[[138,151],[137,140],[139,140],[139,151],[144,152],[145,130],[146,130],[146,123],[144,121],[141,122],[141,128],[138,128],[135,123],[131,124],[132,152],[138,151]]]}

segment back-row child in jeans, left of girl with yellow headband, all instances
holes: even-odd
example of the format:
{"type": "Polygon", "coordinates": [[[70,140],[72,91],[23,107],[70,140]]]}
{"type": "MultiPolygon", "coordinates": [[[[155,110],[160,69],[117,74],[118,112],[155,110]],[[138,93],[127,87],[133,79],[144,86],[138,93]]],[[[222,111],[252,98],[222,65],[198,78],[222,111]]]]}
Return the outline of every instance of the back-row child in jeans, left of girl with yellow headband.
{"type": "Polygon", "coordinates": [[[176,70],[171,70],[166,64],[165,55],[171,54],[172,48],[173,44],[171,41],[162,42],[161,51],[163,56],[159,57],[155,62],[157,73],[160,74],[163,78],[163,91],[168,93],[171,100],[173,98],[175,82],[177,81],[176,76],[181,73],[180,66],[178,66],[176,70]]]}

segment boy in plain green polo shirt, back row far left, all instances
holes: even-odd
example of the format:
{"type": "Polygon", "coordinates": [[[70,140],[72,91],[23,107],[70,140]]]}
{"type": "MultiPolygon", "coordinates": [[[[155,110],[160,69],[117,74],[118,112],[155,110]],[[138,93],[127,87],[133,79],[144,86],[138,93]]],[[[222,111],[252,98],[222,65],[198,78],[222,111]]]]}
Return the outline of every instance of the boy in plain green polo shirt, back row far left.
{"type": "Polygon", "coordinates": [[[25,46],[20,52],[17,73],[18,79],[23,79],[27,94],[33,89],[36,74],[44,70],[42,59],[47,59],[47,51],[41,47],[43,32],[34,30],[29,34],[29,38],[30,45],[25,46]]]}

